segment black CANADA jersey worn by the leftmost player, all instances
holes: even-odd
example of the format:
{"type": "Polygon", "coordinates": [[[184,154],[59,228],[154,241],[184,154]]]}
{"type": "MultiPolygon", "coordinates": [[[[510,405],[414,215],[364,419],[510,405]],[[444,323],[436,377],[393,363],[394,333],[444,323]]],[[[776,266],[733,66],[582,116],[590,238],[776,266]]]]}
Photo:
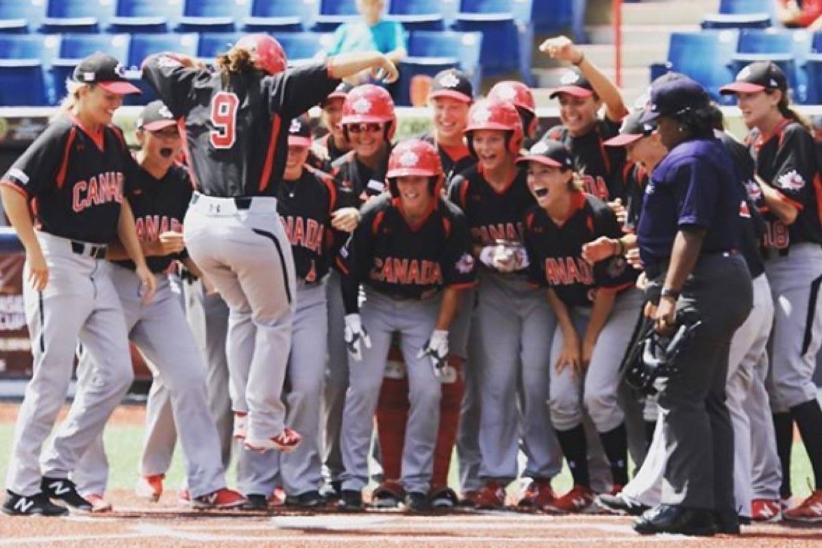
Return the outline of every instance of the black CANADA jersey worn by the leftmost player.
{"type": "Polygon", "coordinates": [[[126,143],[117,127],[92,136],[69,114],[46,127],[2,177],[31,202],[35,225],[55,236],[109,243],[117,237],[126,143]]]}

